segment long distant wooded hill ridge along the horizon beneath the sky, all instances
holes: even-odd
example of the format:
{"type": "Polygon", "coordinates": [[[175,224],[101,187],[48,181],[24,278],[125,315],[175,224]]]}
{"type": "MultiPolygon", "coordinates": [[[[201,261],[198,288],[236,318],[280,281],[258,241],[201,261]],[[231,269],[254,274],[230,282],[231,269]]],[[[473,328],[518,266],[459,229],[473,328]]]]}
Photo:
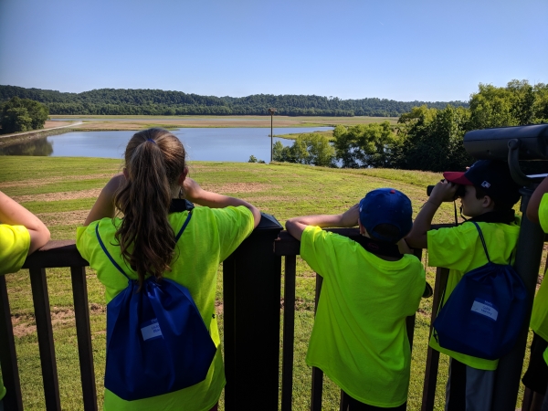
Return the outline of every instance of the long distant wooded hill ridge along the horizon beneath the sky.
{"type": "Polygon", "coordinates": [[[289,116],[399,116],[413,107],[444,109],[468,107],[465,101],[395,101],[387,99],[341,100],[321,96],[254,94],[215,97],[181,91],[100,89],[81,93],[0,86],[0,102],[12,97],[37,100],[50,114],[66,115],[264,115],[275,107],[289,116]]]}

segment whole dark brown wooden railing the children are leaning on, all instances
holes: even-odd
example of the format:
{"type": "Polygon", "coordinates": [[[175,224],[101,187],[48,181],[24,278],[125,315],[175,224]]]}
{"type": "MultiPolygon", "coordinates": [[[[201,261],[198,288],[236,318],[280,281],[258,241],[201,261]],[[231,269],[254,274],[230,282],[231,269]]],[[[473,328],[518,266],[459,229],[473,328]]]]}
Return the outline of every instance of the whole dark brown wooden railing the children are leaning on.
{"type": "MultiPolygon", "coordinates": [[[[263,218],[263,221],[265,218],[263,218]]],[[[281,258],[285,257],[283,341],[281,366],[281,409],[291,409],[293,393],[293,346],[295,327],[295,279],[300,243],[281,231],[275,220],[261,225],[237,251],[223,263],[224,351],[227,387],[225,408],[246,409],[261,404],[261,409],[279,409],[279,321],[281,258]]],[[[333,229],[346,237],[357,237],[355,228],[333,229]]],[[[422,250],[415,251],[421,258],[422,250]]],[[[50,241],[26,259],[29,269],[42,379],[47,410],[60,410],[57,363],[47,294],[46,269],[69,268],[72,281],[79,367],[86,411],[97,410],[97,393],[90,332],[90,309],[85,267],[73,241],[50,241]]],[[[437,269],[433,307],[439,304],[441,290],[448,279],[448,269],[437,269]]],[[[316,276],[316,304],[321,291],[321,277],[316,276]]],[[[23,410],[17,368],[16,346],[5,278],[0,276],[0,363],[7,388],[6,410],[23,410]]],[[[432,310],[431,323],[436,310],[432,310]]],[[[406,321],[411,346],[415,316],[406,321]]],[[[431,326],[430,326],[431,327],[431,326]]],[[[428,348],[423,411],[434,408],[439,353],[428,348]]],[[[323,375],[312,369],[311,409],[321,410],[323,375]]],[[[346,408],[341,396],[340,409],[346,408]]]]}

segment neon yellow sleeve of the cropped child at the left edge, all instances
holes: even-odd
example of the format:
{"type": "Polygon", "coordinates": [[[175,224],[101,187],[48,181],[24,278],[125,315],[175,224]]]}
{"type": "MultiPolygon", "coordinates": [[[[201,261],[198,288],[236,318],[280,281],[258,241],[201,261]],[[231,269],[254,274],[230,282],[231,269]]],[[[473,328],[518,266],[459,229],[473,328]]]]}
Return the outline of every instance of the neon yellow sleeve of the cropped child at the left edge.
{"type": "Polygon", "coordinates": [[[0,274],[17,272],[23,266],[30,248],[26,227],[0,224],[0,274]]]}

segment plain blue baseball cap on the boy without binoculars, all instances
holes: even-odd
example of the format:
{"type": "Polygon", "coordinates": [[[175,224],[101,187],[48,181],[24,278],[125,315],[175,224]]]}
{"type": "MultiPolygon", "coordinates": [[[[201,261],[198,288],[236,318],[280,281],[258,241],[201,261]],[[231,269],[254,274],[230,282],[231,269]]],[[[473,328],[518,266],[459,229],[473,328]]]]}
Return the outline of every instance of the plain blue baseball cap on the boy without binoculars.
{"type": "Polygon", "coordinates": [[[413,227],[411,200],[394,188],[378,188],[370,191],[360,201],[360,222],[370,237],[395,243],[406,237],[413,227]],[[379,224],[394,226],[399,234],[385,237],[374,230],[379,224]]]}

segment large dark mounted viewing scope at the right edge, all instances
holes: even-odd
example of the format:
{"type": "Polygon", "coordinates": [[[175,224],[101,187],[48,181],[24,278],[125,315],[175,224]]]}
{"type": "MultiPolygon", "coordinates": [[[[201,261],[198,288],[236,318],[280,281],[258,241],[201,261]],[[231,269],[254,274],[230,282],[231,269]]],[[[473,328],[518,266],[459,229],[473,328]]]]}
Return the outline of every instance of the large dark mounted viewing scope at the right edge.
{"type": "Polygon", "coordinates": [[[520,160],[548,160],[548,124],[474,130],[464,134],[464,148],[477,160],[508,160],[513,180],[525,187],[535,179],[523,174],[520,160]]]}

